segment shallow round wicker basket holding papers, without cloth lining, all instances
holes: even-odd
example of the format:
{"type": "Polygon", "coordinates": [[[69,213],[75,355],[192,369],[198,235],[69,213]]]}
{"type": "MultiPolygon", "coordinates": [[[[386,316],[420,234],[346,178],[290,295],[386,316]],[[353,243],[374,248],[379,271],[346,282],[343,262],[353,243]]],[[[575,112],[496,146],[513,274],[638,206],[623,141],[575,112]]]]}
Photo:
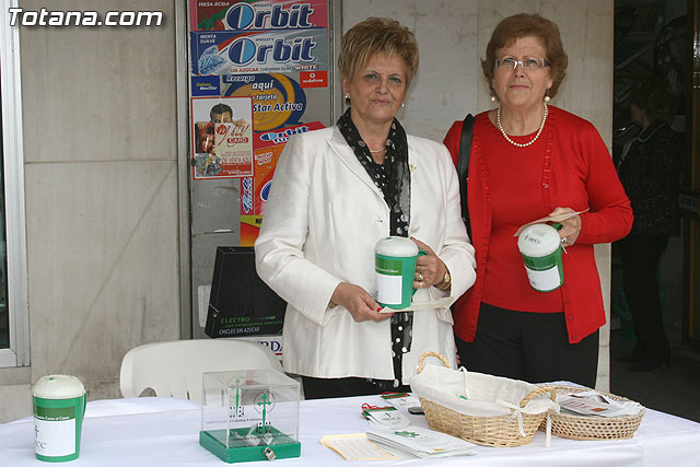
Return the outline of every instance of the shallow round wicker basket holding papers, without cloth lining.
{"type": "MultiPolygon", "coordinates": [[[[591,390],[587,387],[546,385],[557,392],[558,395],[581,393],[591,390]]],[[[598,392],[612,400],[628,401],[625,397],[615,394],[598,392]]],[[[633,416],[623,417],[595,417],[576,416],[570,413],[551,413],[551,433],[559,437],[569,440],[625,440],[632,437],[644,417],[645,409],[642,408],[633,416]]],[[[539,429],[545,430],[545,423],[539,429]]]]}

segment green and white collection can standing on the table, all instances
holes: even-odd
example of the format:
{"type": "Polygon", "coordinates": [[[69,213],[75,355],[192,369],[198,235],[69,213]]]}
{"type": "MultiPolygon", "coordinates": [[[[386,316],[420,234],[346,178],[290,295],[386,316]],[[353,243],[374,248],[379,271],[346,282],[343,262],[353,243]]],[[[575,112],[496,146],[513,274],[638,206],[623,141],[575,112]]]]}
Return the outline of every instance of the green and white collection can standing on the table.
{"type": "Polygon", "coordinates": [[[34,385],[36,458],[60,463],[80,454],[80,435],[88,396],[74,376],[49,375],[34,385]]]}

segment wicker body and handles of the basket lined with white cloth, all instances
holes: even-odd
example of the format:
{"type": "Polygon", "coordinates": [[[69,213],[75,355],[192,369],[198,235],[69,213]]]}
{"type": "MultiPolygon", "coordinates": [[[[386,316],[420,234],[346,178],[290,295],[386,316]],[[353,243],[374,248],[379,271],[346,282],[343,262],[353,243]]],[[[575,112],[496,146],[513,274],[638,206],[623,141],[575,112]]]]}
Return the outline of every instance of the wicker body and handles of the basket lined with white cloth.
{"type": "MultiPolygon", "coordinates": [[[[436,357],[446,367],[450,367],[450,362],[447,362],[447,359],[444,355],[436,352],[425,352],[421,354],[418,360],[417,373],[421,373],[423,371],[425,359],[428,357],[436,357]]],[[[556,400],[557,394],[553,389],[540,387],[525,396],[523,400],[521,400],[520,406],[525,407],[530,399],[545,393],[550,393],[551,400],[556,400]]],[[[523,412],[522,419],[525,436],[522,436],[517,419],[515,417],[474,417],[456,412],[440,404],[420,397],[420,395],[419,399],[423,411],[425,412],[428,425],[432,430],[442,431],[444,433],[452,434],[453,436],[462,437],[463,440],[485,446],[512,447],[529,443],[535,436],[537,428],[542,423],[542,421],[545,421],[548,413],[548,411],[536,415],[523,412]]]]}

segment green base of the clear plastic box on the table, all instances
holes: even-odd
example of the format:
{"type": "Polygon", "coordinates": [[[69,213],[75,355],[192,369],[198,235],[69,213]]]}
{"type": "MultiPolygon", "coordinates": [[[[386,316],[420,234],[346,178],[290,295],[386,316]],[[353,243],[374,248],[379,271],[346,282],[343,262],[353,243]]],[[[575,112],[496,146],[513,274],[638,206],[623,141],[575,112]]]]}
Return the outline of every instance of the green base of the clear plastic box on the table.
{"type": "MultiPolygon", "coordinates": [[[[268,436],[273,443],[261,443],[259,446],[250,446],[245,442],[249,430],[237,429],[230,431],[229,447],[226,447],[226,430],[212,430],[199,432],[199,444],[221,460],[232,463],[245,463],[250,460],[271,460],[266,450],[275,453],[275,458],[284,459],[299,457],[302,454],[302,445],[281,431],[270,428],[268,436]]],[[[269,453],[269,451],[268,451],[269,453]]]]}

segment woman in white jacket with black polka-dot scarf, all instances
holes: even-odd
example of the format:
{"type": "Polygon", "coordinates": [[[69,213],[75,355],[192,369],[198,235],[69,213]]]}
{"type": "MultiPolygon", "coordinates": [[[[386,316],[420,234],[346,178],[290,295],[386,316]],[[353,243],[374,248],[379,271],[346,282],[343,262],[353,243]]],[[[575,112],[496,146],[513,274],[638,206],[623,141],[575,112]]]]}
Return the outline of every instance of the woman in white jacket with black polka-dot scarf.
{"type": "Polygon", "coordinates": [[[476,276],[450,153],[395,118],[418,60],[396,21],[350,28],[338,58],[350,107],[335,127],[291,137],[276,168],[256,267],[288,302],[283,365],[307,398],[409,390],[421,353],[455,361],[450,308],[383,314],[373,296],[374,247],[388,235],[428,252],[415,302],[458,296],[476,276]]]}

